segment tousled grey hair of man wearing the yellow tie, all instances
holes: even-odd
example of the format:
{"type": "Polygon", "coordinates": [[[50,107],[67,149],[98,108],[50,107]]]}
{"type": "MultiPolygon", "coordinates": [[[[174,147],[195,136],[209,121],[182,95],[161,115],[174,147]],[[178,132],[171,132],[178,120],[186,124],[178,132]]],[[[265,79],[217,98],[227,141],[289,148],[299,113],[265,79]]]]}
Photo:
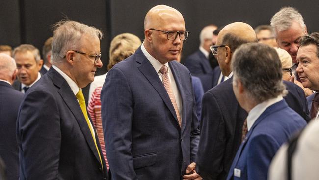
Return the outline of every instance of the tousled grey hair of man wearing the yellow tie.
{"type": "Polygon", "coordinates": [[[61,62],[67,51],[78,48],[84,34],[99,39],[103,36],[101,30],[76,21],[61,20],[53,27],[52,63],[61,62]]]}

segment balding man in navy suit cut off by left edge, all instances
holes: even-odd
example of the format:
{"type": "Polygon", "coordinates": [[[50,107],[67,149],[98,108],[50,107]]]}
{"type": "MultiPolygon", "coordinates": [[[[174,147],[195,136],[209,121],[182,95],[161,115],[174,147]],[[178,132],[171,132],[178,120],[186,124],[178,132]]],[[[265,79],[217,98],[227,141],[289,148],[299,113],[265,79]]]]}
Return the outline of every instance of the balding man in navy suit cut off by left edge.
{"type": "Polygon", "coordinates": [[[16,121],[24,94],[11,86],[16,78],[16,69],[14,59],[0,53],[0,157],[6,165],[8,180],[19,179],[16,121]]]}

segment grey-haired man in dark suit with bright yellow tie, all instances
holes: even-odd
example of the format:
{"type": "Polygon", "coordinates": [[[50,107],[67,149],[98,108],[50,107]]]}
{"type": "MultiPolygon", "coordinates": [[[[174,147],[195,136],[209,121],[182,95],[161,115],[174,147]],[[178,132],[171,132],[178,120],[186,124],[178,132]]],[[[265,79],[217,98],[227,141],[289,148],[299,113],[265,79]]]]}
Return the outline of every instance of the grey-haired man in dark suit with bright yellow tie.
{"type": "Polygon", "coordinates": [[[101,37],[100,30],[75,21],[55,25],[53,66],[27,91],[19,109],[21,180],[108,178],[81,90],[102,67],[101,37]]]}

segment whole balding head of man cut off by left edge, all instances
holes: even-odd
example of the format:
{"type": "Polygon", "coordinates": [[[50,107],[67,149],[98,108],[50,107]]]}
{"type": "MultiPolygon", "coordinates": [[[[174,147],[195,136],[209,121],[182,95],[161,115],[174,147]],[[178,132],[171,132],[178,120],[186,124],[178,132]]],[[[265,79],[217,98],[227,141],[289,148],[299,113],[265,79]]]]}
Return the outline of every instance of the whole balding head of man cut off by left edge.
{"type": "Polygon", "coordinates": [[[0,53],[0,79],[13,83],[16,77],[16,62],[4,53],[0,53]]]}

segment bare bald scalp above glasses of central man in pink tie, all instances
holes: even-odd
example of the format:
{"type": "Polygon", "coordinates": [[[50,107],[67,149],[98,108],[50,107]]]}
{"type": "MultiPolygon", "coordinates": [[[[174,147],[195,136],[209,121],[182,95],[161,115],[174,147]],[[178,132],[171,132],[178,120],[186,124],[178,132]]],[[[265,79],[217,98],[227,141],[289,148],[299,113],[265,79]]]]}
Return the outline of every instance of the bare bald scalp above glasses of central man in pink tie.
{"type": "Polygon", "coordinates": [[[162,27],[162,23],[174,17],[181,18],[184,22],[184,18],[178,10],[167,5],[157,5],[147,12],[144,19],[144,30],[162,27]]]}

